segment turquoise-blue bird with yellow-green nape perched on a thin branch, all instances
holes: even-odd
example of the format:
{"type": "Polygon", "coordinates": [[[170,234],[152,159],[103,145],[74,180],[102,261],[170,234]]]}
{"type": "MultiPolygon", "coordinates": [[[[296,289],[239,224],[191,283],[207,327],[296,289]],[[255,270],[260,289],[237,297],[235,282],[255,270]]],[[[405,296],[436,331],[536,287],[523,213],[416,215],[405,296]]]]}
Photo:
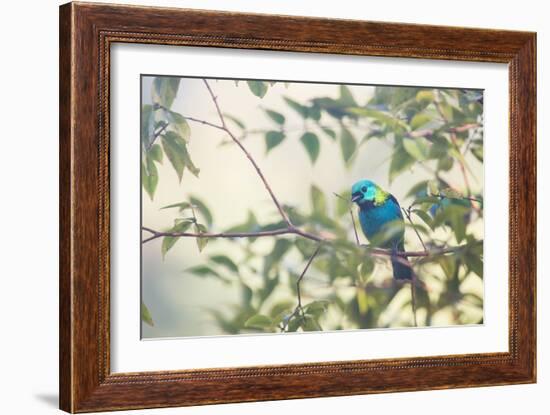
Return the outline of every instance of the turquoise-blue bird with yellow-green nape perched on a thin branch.
{"type": "Polygon", "coordinates": [[[351,187],[351,201],[359,206],[359,223],[369,242],[391,249],[393,277],[412,280],[408,259],[394,254],[405,250],[405,222],[397,199],[371,180],[362,179],[351,187]]]}

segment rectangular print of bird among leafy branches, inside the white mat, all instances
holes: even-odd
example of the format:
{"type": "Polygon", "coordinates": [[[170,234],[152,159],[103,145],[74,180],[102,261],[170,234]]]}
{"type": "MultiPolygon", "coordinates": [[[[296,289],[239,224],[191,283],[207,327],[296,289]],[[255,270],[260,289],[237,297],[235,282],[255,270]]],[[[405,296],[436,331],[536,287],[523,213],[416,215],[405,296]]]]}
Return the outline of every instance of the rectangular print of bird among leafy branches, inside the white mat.
{"type": "Polygon", "coordinates": [[[482,90],[140,82],[142,338],[483,324],[482,90]]]}

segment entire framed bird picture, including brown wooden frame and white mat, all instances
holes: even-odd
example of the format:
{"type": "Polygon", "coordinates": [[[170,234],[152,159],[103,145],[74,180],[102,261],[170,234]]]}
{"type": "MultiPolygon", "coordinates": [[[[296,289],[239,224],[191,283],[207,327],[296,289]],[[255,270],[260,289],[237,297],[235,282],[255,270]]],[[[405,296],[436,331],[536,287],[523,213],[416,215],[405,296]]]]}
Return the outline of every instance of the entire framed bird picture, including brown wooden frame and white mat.
{"type": "Polygon", "coordinates": [[[60,8],[60,407],[536,380],[536,35],[60,8]]]}

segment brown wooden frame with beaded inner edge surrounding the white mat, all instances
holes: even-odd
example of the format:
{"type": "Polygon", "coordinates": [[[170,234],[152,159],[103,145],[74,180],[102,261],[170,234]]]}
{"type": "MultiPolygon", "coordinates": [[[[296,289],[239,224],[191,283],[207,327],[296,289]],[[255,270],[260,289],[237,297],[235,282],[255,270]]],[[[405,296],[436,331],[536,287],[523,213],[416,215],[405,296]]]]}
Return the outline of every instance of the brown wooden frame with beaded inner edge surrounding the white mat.
{"type": "Polygon", "coordinates": [[[106,4],[61,6],[61,409],[91,412],[535,382],[535,105],[535,33],[106,4]],[[110,46],[119,42],[508,64],[509,351],[111,373],[109,70],[110,46]]]}

